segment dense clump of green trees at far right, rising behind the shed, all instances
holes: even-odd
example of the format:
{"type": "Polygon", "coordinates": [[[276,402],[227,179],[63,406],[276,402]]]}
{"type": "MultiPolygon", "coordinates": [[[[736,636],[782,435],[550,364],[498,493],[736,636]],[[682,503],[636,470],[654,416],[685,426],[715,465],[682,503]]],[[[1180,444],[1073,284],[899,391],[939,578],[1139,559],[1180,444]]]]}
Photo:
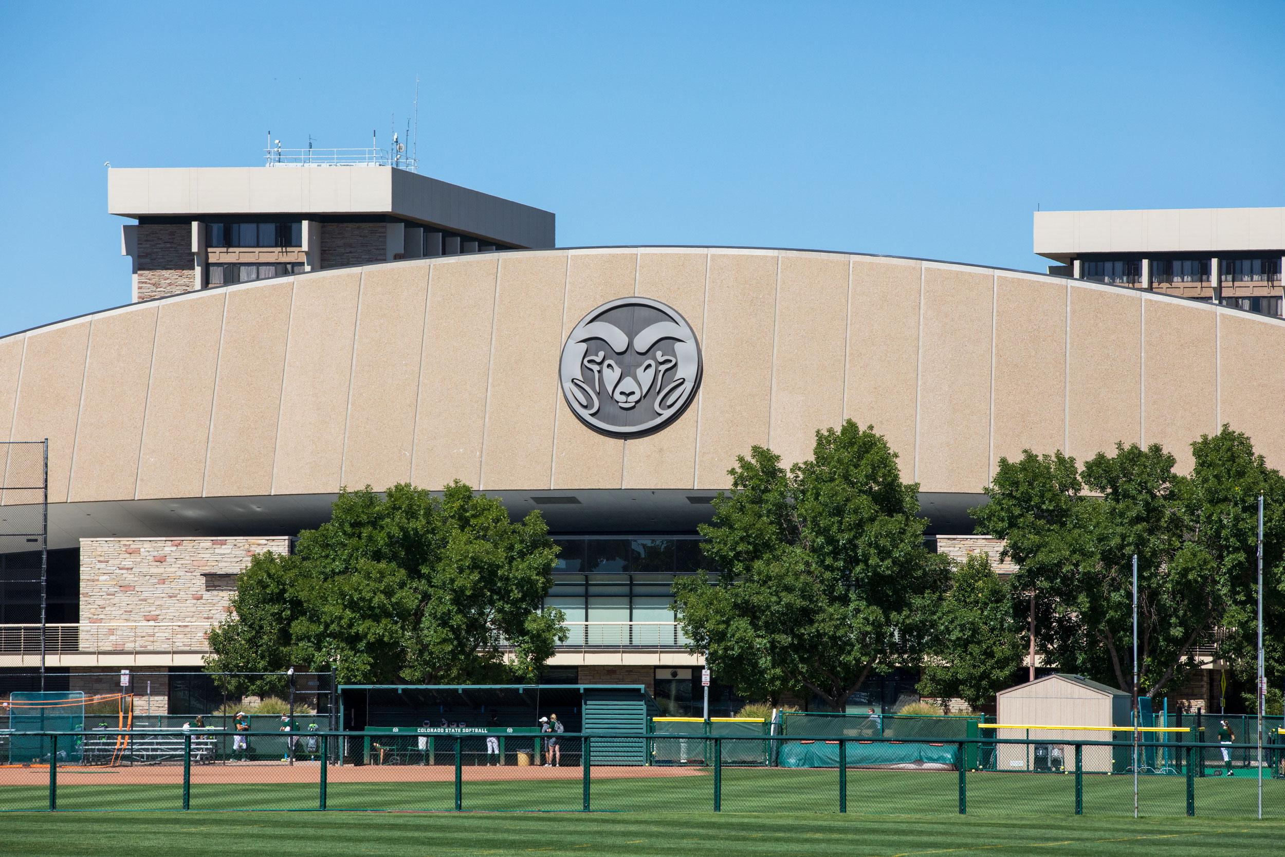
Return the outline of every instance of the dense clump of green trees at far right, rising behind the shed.
{"type": "MultiPolygon", "coordinates": [[[[1191,445],[1191,475],[1159,445],[1117,445],[1077,468],[1055,452],[1000,459],[974,511],[978,532],[1006,540],[1019,597],[1034,595],[1037,646],[1049,660],[1132,687],[1132,556],[1139,558],[1139,687],[1160,695],[1194,669],[1216,630],[1236,641],[1254,624],[1257,495],[1267,526],[1268,579],[1280,587],[1285,484],[1230,428],[1191,445]]],[[[1279,608],[1277,608],[1279,609],[1279,608]]]]}

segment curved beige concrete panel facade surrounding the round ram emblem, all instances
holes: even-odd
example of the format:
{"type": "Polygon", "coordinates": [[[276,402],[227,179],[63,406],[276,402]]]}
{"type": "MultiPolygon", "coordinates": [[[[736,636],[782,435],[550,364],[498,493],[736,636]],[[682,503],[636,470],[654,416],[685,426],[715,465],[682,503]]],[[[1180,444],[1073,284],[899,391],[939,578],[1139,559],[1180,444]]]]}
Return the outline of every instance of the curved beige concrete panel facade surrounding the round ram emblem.
{"type": "Polygon", "coordinates": [[[1085,459],[1159,441],[1185,463],[1219,423],[1285,466],[1285,367],[1263,358],[1282,346],[1281,321],[1046,275],[532,251],[193,292],[0,338],[0,437],[50,438],[54,502],[407,478],[709,490],[750,445],[789,463],[847,414],[924,491],[977,493],[1027,447],[1085,459]],[[626,442],[572,415],[556,371],[567,331],[630,294],[687,319],[704,378],[681,419],[626,442]]]}

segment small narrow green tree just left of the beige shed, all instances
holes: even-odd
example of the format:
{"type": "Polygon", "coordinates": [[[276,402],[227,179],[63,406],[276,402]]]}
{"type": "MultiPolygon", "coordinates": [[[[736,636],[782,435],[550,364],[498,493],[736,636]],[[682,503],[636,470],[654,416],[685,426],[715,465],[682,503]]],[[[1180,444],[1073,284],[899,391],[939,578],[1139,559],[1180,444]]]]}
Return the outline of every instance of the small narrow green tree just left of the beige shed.
{"type": "Polygon", "coordinates": [[[991,558],[970,555],[951,576],[937,612],[919,693],[957,696],[978,708],[1013,684],[1025,657],[1024,627],[1013,601],[1009,581],[995,573],[991,558]]]}

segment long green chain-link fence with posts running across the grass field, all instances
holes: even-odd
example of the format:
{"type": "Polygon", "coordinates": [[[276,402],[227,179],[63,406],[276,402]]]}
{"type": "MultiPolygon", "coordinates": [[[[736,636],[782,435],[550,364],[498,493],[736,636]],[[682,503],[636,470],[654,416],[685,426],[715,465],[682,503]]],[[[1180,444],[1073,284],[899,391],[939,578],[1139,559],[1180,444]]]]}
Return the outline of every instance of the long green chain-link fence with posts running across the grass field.
{"type": "MultiPolygon", "coordinates": [[[[1105,748],[1108,757],[1117,748],[1128,755],[1130,741],[1073,741],[1059,770],[969,763],[1000,749],[1034,758],[1033,744],[700,731],[551,736],[479,727],[432,735],[320,729],[8,732],[0,734],[0,763],[6,762],[0,764],[0,811],[1132,816],[1132,777],[1092,772],[1087,763],[1095,748],[1105,748]],[[669,752],[667,745],[680,740],[708,750],[690,757],[669,752]],[[22,748],[24,758],[13,748],[22,748]],[[799,748],[811,749],[801,757],[799,748]],[[785,767],[780,761],[788,758],[812,764],[785,767]]],[[[1205,747],[1182,747],[1181,776],[1140,777],[1141,815],[1254,817],[1257,762],[1234,776],[1201,779],[1205,747]]],[[[1270,777],[1263,817],[1285,818],[1282,749],[1273,744],[1261,771],[1270,777]]]]}

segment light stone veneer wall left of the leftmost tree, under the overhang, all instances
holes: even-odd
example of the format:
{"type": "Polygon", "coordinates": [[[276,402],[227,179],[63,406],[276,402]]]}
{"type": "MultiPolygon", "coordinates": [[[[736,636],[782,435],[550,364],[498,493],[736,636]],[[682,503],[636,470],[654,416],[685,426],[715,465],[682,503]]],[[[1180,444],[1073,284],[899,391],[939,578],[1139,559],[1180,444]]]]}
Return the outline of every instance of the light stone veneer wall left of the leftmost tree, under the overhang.
{"type": "MultiPolygon", "coordinates": [[[[203,627],[166,623],[221,622],[236,574],[266,550],[287,554],[289,538],[82,538],[81,623],[155,622],[149,648],[204,651],[203,627]]],[[[146,630],[81,628],[81,649],[130,648],[135,633],[146,630]]]]}

